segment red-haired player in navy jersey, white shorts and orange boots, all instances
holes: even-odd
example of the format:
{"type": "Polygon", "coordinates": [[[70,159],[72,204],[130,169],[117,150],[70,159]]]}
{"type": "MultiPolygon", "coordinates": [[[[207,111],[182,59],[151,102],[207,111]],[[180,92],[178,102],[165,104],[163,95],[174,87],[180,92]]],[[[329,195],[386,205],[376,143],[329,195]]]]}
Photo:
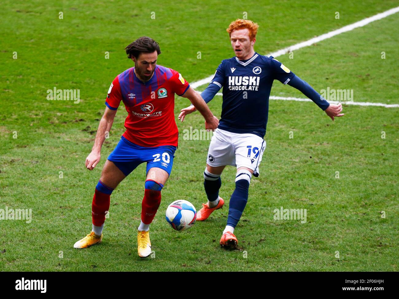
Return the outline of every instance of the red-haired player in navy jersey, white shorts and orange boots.
{"type": "MultiPolygon", "coordinates": [[[[237,167],[235,190],[230,198],[227,225],[220,239],[225,248],[237,247],[234,229],[248,200],[252,175],[259,176],[259,164],[266,147],[269,96],[274,80],[300,90],[334,120],[342,105],[328,103],[308,83],[304,82],[276,59],[259,55],[253,49],[258,30],[257,23],[237,19],[227,28],[235,57],[225,59],[218,66],[209,86],[201,93],[209,102],[223,88],[223,104],[219,126],[215,130],[207,155],[204,187],[208,202],[197,213],[204,221],[224,205],[219,197],[220,175],[227,165],[237,167]]],[[[196,111],[194,106],[181,110],[179,119],[196,111]]]]}

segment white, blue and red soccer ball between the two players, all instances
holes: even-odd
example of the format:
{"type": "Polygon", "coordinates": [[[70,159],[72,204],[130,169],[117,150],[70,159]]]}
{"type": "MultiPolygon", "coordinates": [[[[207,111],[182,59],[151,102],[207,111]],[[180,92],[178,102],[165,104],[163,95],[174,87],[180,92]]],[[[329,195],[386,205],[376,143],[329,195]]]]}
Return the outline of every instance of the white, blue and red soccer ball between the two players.
{"type": "Polygon", "coordinates": [[[166,221],[176,231],[186,231],[196,223],[197,211],[187,200],[176,200],[166,209],[166,221]]]}

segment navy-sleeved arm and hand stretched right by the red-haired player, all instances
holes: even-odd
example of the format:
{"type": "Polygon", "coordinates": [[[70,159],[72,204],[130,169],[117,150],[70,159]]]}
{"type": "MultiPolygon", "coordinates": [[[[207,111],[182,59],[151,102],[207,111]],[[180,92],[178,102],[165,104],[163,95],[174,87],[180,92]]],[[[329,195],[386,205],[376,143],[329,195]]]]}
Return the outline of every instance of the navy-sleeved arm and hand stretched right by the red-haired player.
{"type": "Polygon", "coordinates": [[[340,117],[344,115],[344,113],[341,113],[342,111],[342,104],[332,104],[328,103],[326,100],[323,99],[322,96],[316,90],[312,88],[307,82],[299,78],[298,76],[294,76],[289,82],[289,86],[292,86],[302,92],[305,96],[310,98],[313,102],[316,103],[317,106],[319,106],[321,109],[323,109],[328,116],[331,117],[332,120],[334,120],[334,117],[340,117]]]}

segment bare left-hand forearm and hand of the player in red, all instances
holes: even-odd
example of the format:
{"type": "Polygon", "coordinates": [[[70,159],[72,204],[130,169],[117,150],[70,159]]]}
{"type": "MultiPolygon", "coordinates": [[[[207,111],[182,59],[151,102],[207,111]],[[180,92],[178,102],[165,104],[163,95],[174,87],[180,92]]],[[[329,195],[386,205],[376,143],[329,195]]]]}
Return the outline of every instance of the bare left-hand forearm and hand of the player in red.
{"type": "Polygon", "coordinates": [[[117,114],[117,110],[111,110],[108,107],[105,107],[104,115],[101,117],[99,128],[97,129],[93,149],[91,149],[91,153],[86,158],[85,166],[88,170],[93,170],[98,162],[100,162],[101,147],[105,140],[105,133],[109,133],[111,130],[115,114],[117,114]]]}

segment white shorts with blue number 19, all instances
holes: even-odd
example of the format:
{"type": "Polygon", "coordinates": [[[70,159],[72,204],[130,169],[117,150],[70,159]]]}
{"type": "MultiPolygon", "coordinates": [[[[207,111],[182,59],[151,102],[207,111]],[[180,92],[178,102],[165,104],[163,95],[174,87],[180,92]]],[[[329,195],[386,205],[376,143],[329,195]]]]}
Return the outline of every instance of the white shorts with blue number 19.
{"type": "Polygon", "coordinates": [[[216,129],[209,145],[206,162],[213,167],[247,167],[254,171],[254,176],[258,176],[265,148],[266,141],[258,135],[216,129]]]}

